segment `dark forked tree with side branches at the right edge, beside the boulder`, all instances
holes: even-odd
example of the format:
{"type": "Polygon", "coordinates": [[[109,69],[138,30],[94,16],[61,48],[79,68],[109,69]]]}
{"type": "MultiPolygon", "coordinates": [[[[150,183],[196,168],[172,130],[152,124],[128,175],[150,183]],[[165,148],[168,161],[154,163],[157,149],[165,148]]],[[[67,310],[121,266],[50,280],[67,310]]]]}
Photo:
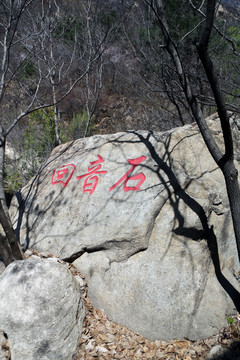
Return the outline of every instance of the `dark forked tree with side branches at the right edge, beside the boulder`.
{"type": "MultiPolygon", "coordinates": [[[[190,33],[194,33],[194,35],[196,35],[195,31],[197,30],[197,35],[194,36],[194,43],[197,50],[196,54],[203,66],[206,76],[205,81],[206,84],[210,87],[212,94],[211,100],[214,100],[215,107],[219,115],[222,137],[225,146],[224,152],[222,152],[208,127],[202,108],[198,101],[199,99],[193,90],[195,84],[184,61],[185,54],[184,52],[180,51],[179,47],[177,46],[177,39],[174,38],[174,36],[171,34],[171,27],[169,26],[166,7],[164,6],[167,4],[167,1],[143,1],[148,5],[149,9],[151,9],[151,12],[155,17],[155,21],[161,29],[162,37],[160,39],[161,43],[159,45],[169,55],[168,60],[171,62],[174,68],[174,72],[177,75],[175,82],[178,83],[178,87],[185,96],[189,111],[191,111],[191,115],[198,124],[210,154],[224,175],[230,210],[232,214],[238,257],[240,259],[240,191],[238,183],[238,171],[234,165],[234,148],[230,125],[230,115],[228,113],[228,106],[225,102],[226,93],[221,87],[221,74],[218,74],[217,72],[218,68],[214,58],[211,41],[214,36],[218,36],[221,41],[226,40],[227,44],[230,44],[232,51],[236,55],[239,55],[237,53],[238,46],[233,41],[233,39],[229,39],[229,37],[227,37],[226,33],[221,32],[220,28],[218,28],[217,24],[215,23],[217,14],[217,4],[215,0],[203,1],[199,6],[194,5],[190,0],[189,3],[192,5],[192,8],[201,15],[201,19],[192,29],[192,31],[189,31],[188,34],[186,34],[186,36],[188,36],[190,33]]],[[[231,61],[231,58],[229,58],[229,61],[231,61]]],[[[235,81],[236,71],[238,71],[238,69],[233,68],[232,78],[235,81]]],[[[234,93],[232,93],[232,96],[234,96],[234,93]]],[[[231,108],[233,108],[233,106],[231,108]]]]}

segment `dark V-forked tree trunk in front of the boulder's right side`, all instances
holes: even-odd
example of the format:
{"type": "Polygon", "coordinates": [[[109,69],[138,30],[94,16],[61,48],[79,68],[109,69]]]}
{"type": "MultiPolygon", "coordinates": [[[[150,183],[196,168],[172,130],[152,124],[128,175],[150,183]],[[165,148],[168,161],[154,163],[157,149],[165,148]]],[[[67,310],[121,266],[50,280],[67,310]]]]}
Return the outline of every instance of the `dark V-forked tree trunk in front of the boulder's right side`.
{"type": "Polygon", "coordinates": [[[201,30],[199,41],[196,43],[196,48],[217,107],[217,112],[221,123],[222,137],[225,145],[224,152],[222,152],[218,144],[215,142],[215,139],[203,115],[202,109],[199,106],[196,96],[194,95],[191,79],[189,78],[189,75],[184,68],[183,58],[179,53],[176,43],[174,42],[169,31],[169,24],[167,21],[163,1],[144,0],[144,2],[150,7],[151,11],[156,16],[159,27],[163,34],[164,44],[161,45],[163,45],[164,49],[170,55],[171,61],[178,75],[179,84],[183,93],[185,94],[185,98],[190,107],[191,113],[198,124],[209,152],[224,175],[230,210],[232,214],[238,257],[240,259],[240,191],[238,184],[238,171],[234,165],[233,139],[229,114],[227,112],[227,106],[224,100],[224,93],[219,83],[219,75],[216,73],[216,68],[209,55],[209,43],[212,31],[214,29],[214,19],[217,9],[216,1],[207,0],[205,12],[203,10],[203,4],[205,1],[201,3],[201,8],[198,8],[198,10],[203,14],[204,26],[201,30]]]}

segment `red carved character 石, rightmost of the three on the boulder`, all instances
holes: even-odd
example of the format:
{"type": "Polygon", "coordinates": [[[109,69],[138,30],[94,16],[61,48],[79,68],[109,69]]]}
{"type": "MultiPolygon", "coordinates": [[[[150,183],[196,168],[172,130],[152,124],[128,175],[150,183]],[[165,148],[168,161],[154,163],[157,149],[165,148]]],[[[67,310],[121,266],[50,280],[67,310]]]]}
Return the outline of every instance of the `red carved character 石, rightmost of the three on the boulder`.
{"type": "Polygon", "coordinates": [[[146,156],[140,156],[139,158],[136,158],[136,159],[128,159],[128,163],[130,165],[132,165],[131,169],[129,169],[120,180],[118,180],[113,186],[111,186],[109,191],[112,191],[121,182],[123,182],[123,190],[124,191],[131,191],[131,190],[139,191],[140,186],[146,179],[146,176],[143,173],[139,173],[139,174],[136,174],[133,176],[129,176],[129,175],[133,172],[135,167],[138,166],[139,164],[141,164],[141,162],[143,162],[144,160],[146,160],[146,156]],[[130,180],[138,180],[137,185],[136,186],[127,186],[127,182],[130,180]]]}

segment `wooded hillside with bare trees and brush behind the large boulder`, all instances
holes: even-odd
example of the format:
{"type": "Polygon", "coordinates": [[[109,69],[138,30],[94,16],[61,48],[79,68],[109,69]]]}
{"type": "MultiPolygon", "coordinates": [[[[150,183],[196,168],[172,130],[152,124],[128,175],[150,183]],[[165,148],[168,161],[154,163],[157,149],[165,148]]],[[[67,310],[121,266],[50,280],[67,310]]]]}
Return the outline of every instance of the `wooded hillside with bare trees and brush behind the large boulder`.
{"type": "MultiPolygon", "coordinates": [[[[216,104],[196,49],[205,6],[165,2],[171,37],[208,116],[216,104]]],[[[4,0],[0,14],[7,193],[25,185],[58,144],[194,121],[148,1],[4,0]]],[[[238,15],[238,1],[218,4],[210,42],[231,112],[239,111],[238,15]]]]}

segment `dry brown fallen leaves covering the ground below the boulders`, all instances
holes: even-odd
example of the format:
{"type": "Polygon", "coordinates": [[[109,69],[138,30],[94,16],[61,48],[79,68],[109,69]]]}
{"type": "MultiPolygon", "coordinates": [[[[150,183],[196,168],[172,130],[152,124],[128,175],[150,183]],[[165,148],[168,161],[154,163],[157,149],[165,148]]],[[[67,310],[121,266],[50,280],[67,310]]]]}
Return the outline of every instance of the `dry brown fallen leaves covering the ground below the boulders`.
{"type": "MultiPolygon", "coordinates": [[[[79,276],[73,268],[71,270],[79,276]]],[[[87,296],[87,284],[84,281],[82,291],[86,318],[76,360],[240,360],[238,314],[226,319],[226,327],[208,339],[150,341],[110,321],[102,311],[94,308],[87,296]]]]}

